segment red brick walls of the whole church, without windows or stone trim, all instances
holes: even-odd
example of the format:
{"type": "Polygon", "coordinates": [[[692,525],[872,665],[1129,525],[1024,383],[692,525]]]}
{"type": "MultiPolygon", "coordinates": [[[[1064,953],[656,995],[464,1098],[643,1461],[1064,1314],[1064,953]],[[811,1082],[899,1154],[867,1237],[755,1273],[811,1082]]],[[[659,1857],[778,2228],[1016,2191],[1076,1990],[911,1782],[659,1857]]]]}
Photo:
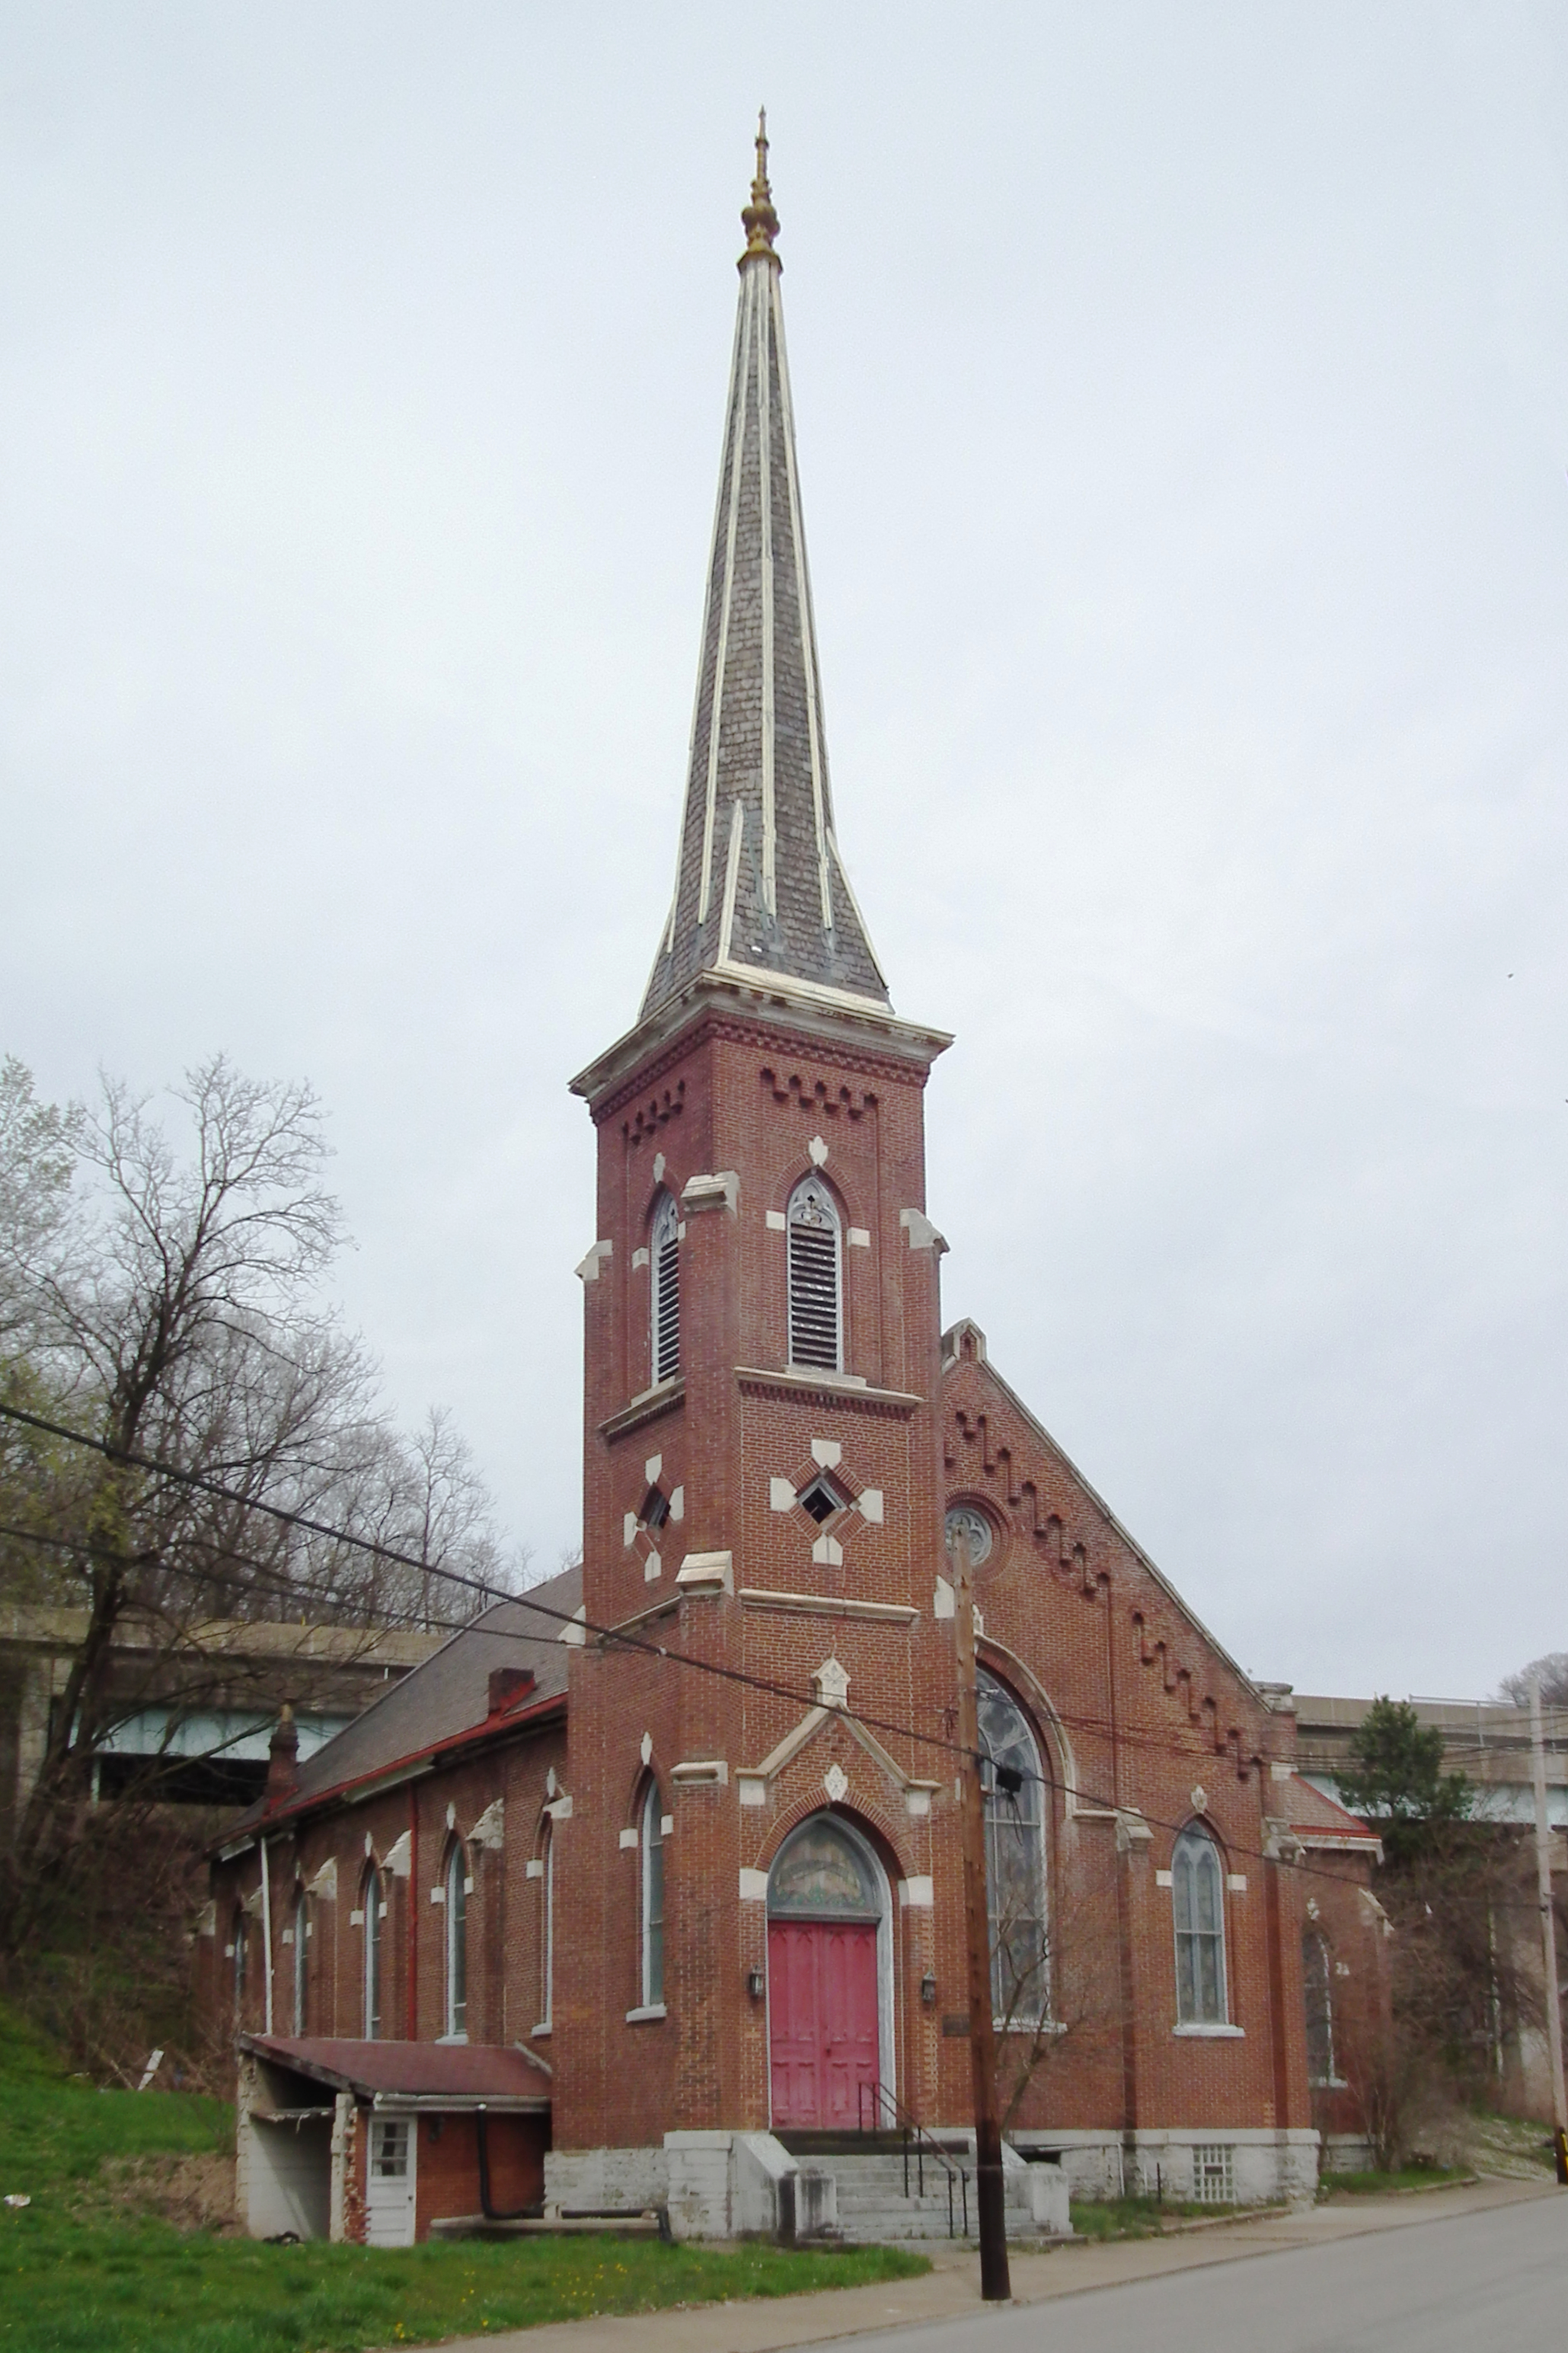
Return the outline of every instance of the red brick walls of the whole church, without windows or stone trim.
{"type": "MultiPolygon", "coordinates": [[[[1312,1882],[1279,1861],[1295,1852],[1284,1821],[1293,1718],[1201,1633],[985,1362],[973,1327],[959,1327],[943,1369],[938,1259],[912,1247],[922,1228],[903,1219],[924,1209],[922,1089],[919,1064],[849,1035],[835,1045],[701,1016],[595,1108],[597,1238],[611,1249],[583,1292],[585,1609],[595,1626],[642,1617],[637,1638],[656,1649],[592,1635],[571,1649],[569,1741],[559,1729],[520,1737],[275,1840],[275,1932],[296,1878],[339,1857],[336,1906],[317,1906],[310,2031],[362,2031],[362,1937],[348,1915],[364,1840],[386,1857],[409,1831],[414,1878],[393,1880],[383,2033],[442,2033],[444,1911],[430,1887],[442,1878],[447,1809],[468,1831],[503,1793],[505,1849],[473,1861],[468,2033],[534,2042],[543,1889],[527,1861],[541,1852],[555,1769],[555,2031],[534,2042],[555,2068],[555,2144],[764,2127],[766,2002],[750,1995],[748,1972],[766,1962],[766,1908],[741,1899],[741,1871],[766,1873],[795,1824],[827,1805],[825,1774],[837,1767],[839,1807],[893,1887],[896,2087],[917,2115],[961,2120],[969,2052],[961,2031],[945,2031],[964,2012],[966,1974],[954,1664],[952,1621],[936,1602],[947,1569],[943,1511],[964,1499],[992,1527],[976,1577],[983,1659],[1030,1715],[1051,1784],[1065,2033],[1039,2047],[1009,2042],[1006,2089],[1027,2075],[1013,2125],[1312,2122],[1300,1979],[1312,1882]],[[785,1235],[766,1219],[813,1167],[818,1136],[844,1226],[867,1235],[844,1249],[846,1369],[858,1388],[783,1377],[785,1235]],[[738,1191],[733,1207],[684,1214],[682,1381],[642,1398],[651,1280],[632,1257],[649,1242],[661,1181],[679,1200],[691,1176],[712,1172],[736,1172],[738,1191]],[[879,1520],[851,1513],[837,1532],[839,1565],[816,1562],[816,1525],[771,1499],[771,1480],[799,1485],[823,1440],[839,1447],[837,1473],[856,1497],[882,1497],[879,1520]],[[679,1489],[682,1515],[628,1544],[625,1515],[642,1511],[651,1475],[668,1497],[679,1489]],[[731,1553],[736,1591],[682,1593],[686,1553],[731,1553]],[[802,1607],[759,1607],[745,1591],[799,1595],[802,1607]],[[907,1617],[835,1617],[825,1607],[835,1600],[907,1617]],[[724,1673],[698,1673],[682,1657],[724,1673]],[[762,1805],[741,1805],[738,1777],[797,1729],[811,1675],[830,1657],[849,1673],[851,1708],[872,1720],[870,1741],[830,1718],[769,1779],[762,1805]],[[726,1781],[675,1779],[675,1767],[703,1760],[722,1760],[726,1781]],[[628,2021],[639,2007],[639,1854],[621,1838],[637,1826],[646,1772],[670,1817],[665,2017],[628,2021]],[[1241,2028],[1211,2040],[1173,2033],[1171,1889],[1159,1885],[1194,1812],[1227,1866],[1229,2021],[1241,2028]],[[933,1908],[900,1901],[910,1880],[931,1880],[933,1908]],[[926,1974],[933,2002],[922,2000],[926,1974]]],[[[1347,1861],[1345,1885],[1356,1875],[1363,1866],[1347,1861]]],[[[216,1873],[216,1955],[233,1889],[254,1885],[254,1854],[216,1873]]],[[[252,1937],[259,1948],[256,1922],[252,1937]]],[[[292,2031],[289,1965],[280,1958],[280,2033],[292,2031]]],[[[214,1960],[214,1972],[223,1967],[214,1960]]],[[[252,1967],[247,2024],[259,2009],[252,1967]]]]}

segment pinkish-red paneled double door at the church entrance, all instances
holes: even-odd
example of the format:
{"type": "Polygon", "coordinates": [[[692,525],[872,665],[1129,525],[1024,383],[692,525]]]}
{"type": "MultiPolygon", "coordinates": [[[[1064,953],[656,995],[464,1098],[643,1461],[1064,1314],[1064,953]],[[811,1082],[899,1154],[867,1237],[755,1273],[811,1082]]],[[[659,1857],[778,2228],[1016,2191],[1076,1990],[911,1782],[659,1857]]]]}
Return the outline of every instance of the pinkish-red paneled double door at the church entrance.
{"type": "Polygon", "coordinates": [[[769,1920],[773,2125],[879,2125],[877,1922],[769,1920]]]}

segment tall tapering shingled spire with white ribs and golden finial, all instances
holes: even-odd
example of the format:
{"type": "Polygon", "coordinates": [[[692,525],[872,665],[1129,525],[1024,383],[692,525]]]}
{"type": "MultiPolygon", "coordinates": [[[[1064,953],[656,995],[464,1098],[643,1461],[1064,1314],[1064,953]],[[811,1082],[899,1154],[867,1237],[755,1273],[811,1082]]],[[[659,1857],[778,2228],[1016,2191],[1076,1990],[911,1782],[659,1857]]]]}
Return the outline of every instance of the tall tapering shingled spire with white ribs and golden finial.
{"type": "Polygon", "coordinates": [[[762,113],[752,200],[741,214],[741,308],[675,904],[644,1016],[703,972],[776,974],[889,1005],[832,831],[766,165],[762,113]]]}

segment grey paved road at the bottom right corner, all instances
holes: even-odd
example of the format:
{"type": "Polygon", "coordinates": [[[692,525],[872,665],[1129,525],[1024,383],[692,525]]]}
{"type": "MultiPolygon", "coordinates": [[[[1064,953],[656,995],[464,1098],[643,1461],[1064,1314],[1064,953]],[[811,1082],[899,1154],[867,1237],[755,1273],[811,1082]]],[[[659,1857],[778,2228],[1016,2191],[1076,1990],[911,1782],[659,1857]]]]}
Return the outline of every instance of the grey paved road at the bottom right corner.
{"type": "Polygon", "coordinates": [[[990,2306],[863,2344],[867,2353],[1526,2353],[1561,2341],[1566,2311],[1568,2198],[1547,2198],[990,2306]]]}

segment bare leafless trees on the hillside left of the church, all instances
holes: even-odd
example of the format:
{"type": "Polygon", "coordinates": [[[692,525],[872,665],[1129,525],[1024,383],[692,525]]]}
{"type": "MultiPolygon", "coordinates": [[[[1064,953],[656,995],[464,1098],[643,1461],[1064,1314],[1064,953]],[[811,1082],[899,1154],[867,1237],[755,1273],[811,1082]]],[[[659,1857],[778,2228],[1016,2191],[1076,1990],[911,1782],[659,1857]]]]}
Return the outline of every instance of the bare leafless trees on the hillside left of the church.
{"type": "Polygon", "coordinates": [[[7,1593],[82,1612],[5,1866],[0,1951],[89,1852],[94,1760],[127,1708],[155,1697],[167,1734],[216,1689],[233,1701],[214,1619],[430,1621],[451,1614],[435,1569],[508,1574],[451,1421],[400,1440],[362,1344],[322,1304],[341,1219],[310,1089],[219,1056],[174,1101],[183,1151],[115,1080],[92,1113],[54,1113],[16,1064],[0,1078],[5,1402],[103,1449],[16,1421],[0,1442],[7,1593]]]}

